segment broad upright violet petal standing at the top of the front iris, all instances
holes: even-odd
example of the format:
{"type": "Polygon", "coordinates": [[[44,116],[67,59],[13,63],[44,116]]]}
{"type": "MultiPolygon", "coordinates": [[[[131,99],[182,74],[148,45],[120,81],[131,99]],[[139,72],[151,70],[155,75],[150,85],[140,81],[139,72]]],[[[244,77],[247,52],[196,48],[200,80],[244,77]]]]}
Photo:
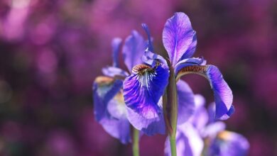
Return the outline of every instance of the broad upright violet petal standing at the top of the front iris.
{"type": "MultiPolygon", "coordinates": [[[[173,66],[188,52],[188,49],[191,51],[195,49],[192,48],[193,46],[190,48],[190,45],[196,45],[193,43],[194,37],[195,31],[185,13],[175,13],[166,21],[163,28],[163,45],[173,66]]],[[[188,53],[188,56],[193,54],[193,52],[188,53]]]]}

